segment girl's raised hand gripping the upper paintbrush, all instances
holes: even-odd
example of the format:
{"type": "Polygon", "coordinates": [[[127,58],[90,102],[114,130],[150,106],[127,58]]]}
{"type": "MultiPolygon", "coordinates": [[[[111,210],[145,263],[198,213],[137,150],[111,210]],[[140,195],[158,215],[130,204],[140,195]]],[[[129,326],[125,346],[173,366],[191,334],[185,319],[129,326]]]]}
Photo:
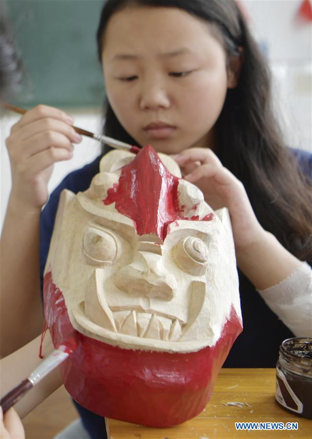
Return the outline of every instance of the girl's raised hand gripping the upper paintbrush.
{"type": "Polygon", "coordinates": [[[62,110],[38,105],[13,125],[6,140],[12,169],[12,198],[22,209],[40,209],[48,199],[53,165],[73,156],[81,136],[62,110]]]}

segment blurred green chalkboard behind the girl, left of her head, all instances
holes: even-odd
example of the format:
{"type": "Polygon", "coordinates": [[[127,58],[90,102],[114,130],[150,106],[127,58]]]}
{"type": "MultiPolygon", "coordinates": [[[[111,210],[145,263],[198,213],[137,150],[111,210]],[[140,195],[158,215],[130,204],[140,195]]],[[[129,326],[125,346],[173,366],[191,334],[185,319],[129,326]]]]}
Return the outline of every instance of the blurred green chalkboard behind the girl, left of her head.
{"type": "Polygon", "coordinates": [[[104,1],[4,3],[26,73],[23,90],[14,103],[102,107],[104,82],[95,35],[104,1]]]}

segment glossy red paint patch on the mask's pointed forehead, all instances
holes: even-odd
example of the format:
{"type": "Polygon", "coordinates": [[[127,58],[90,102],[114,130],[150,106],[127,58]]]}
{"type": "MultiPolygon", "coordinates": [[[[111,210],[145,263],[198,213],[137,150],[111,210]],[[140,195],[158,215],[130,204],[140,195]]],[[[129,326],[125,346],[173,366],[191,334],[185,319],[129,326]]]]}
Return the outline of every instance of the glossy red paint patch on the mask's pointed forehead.
{"type": "MultiPolygon", "coordinates": [[[[124,166],[118,184],[108,189],[105,205],[131,218],[138,235],[155,234],[165,240],[167,227],[176,220],[199,220],[183,215],[179,206],[179,178],[170,174],[152,146],[145,146],[124,166]]],[[[210,220],[211,218],[209,218],[210,220]]]]}

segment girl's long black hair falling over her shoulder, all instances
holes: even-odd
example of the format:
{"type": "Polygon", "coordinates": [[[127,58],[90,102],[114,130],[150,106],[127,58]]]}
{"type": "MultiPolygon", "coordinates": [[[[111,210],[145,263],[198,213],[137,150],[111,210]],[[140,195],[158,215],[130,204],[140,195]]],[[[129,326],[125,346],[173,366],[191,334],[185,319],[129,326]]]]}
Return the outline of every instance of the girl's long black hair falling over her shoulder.
{"type": "MultiPolygon", "coordinates": [[[[237,87],[229,89],[216,122],[216,154],[244,185],[258,221],[299,259],[312,264],[312,184],[286,148],[273,114],[270,70],[234,0],[107,0],[97,31],[101,61],[109,19],[127,6],[175,7],[206,20],[222,36],[229,62],[243,49],[237,87]]],[[[106,135],[130,144],[106,103],[106,135]]]]}

